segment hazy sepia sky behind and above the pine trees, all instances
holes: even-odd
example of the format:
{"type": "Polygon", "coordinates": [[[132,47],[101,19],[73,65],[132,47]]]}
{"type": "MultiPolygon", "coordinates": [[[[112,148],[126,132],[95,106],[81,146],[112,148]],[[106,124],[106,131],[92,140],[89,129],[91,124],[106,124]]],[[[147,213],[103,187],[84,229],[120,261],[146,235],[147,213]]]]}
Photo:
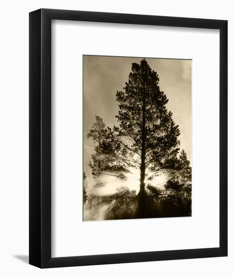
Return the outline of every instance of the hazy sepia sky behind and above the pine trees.
{"type": "MultiPolygon", "coordinates": [[[[192,159],[192,61],[180,59],[147,58],[152,70],[159,75],[159,86],[168,98],[166,107],[173,113],[180,129],[180,150],[192,159]]],[[[132,62],[143,58],[83,56],[83,156],[84,171],[90,173],[88,162],[94,152],[93,141],[86,135],[95,122],[103,118],[107,126],[117,125],[116,92],[122,91],[131,72],[132,62]]],[[[191,161],[192,163],[192,161],[191,161]]]]}

